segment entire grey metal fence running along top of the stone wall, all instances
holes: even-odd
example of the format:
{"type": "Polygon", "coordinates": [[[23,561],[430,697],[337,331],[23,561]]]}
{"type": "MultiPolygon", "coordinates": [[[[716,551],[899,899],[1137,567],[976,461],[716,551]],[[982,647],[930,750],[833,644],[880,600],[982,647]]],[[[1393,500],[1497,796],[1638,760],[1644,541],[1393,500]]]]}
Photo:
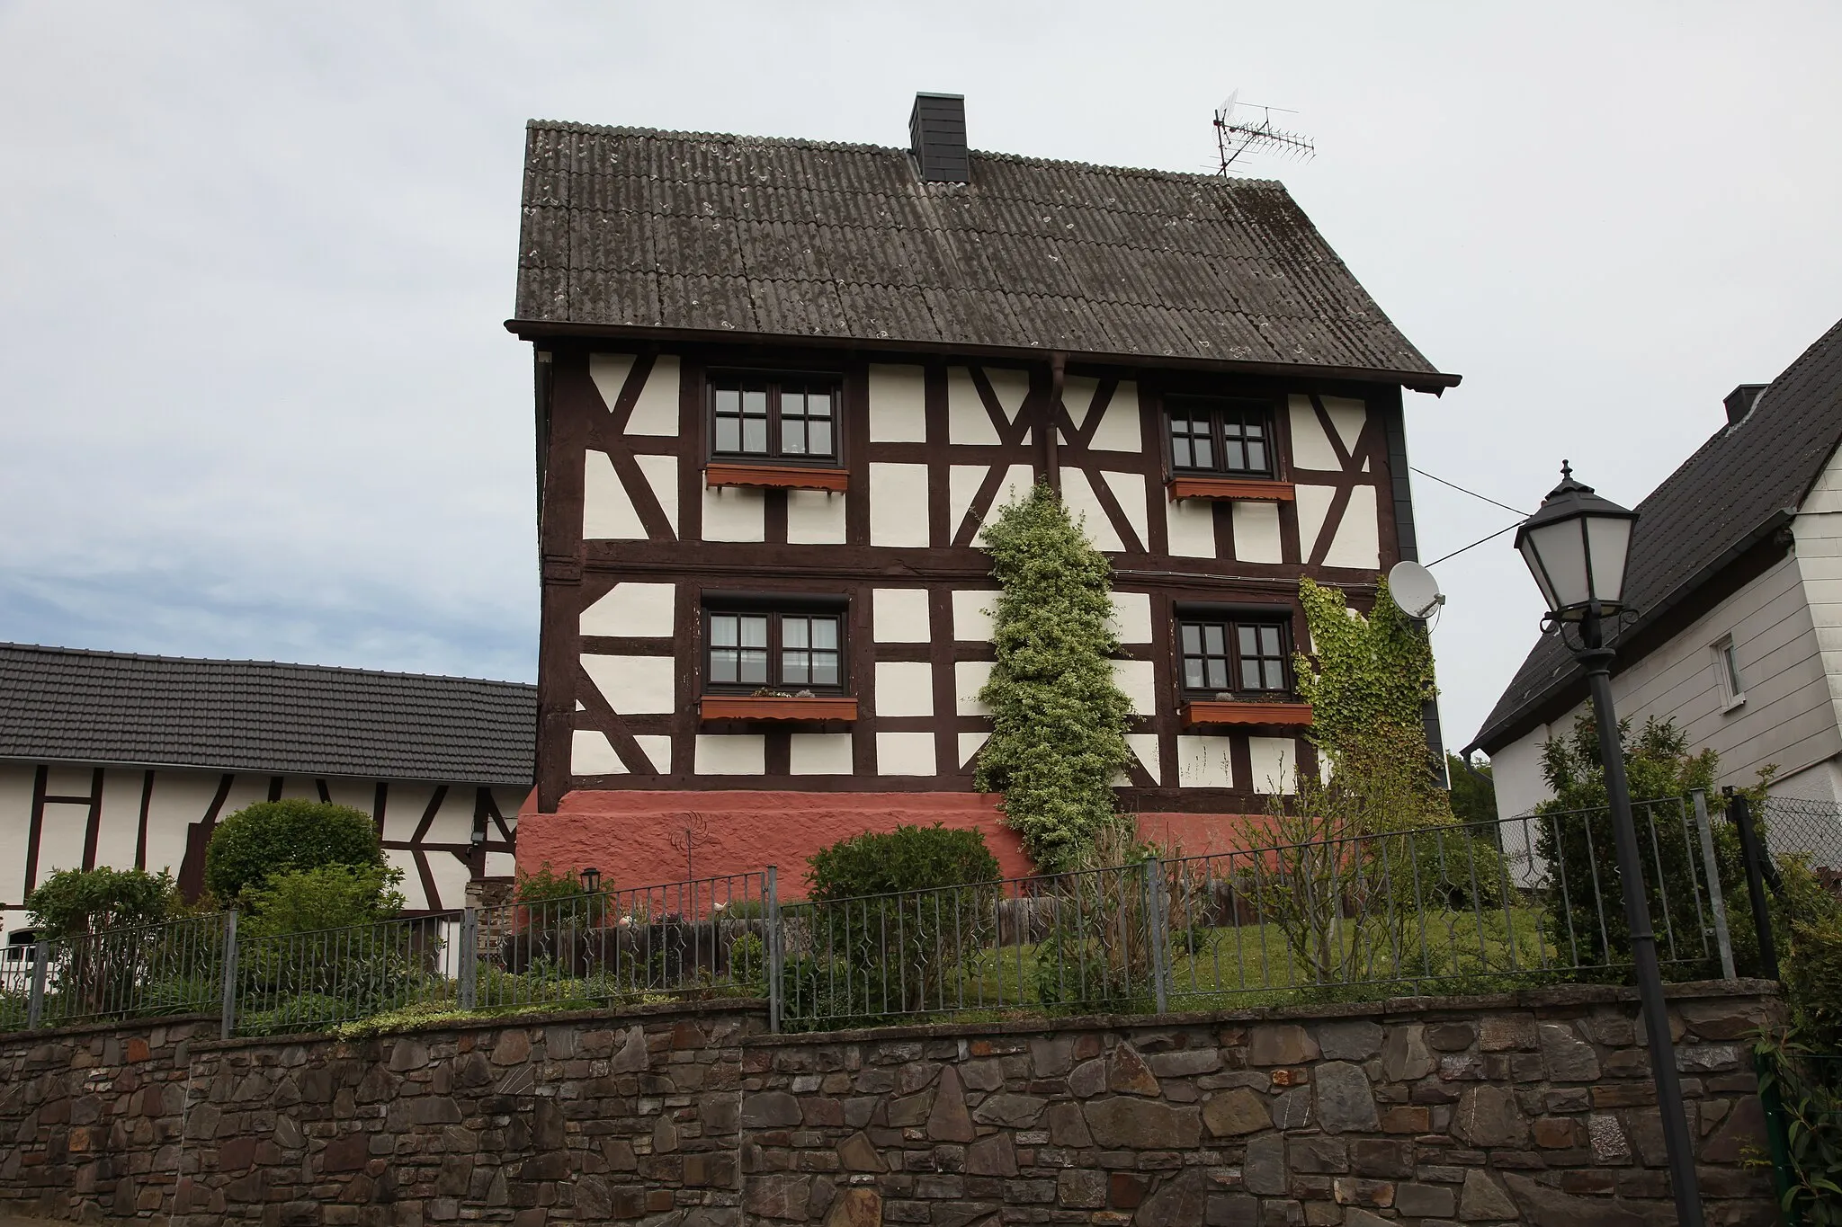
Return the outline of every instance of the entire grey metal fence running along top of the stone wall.
{"type": "MultiPolygon", "coordinates": [[[[1706,808],[1636,804],[1658,957],[1733,975],[1706,808]]],[[[0,1023],[217,1014],[223,1034],[400,1010],[757,995],[775,1026],[1151,1012],[1617,980],[1606,809],[779,903],[775,870],[319,933],[236,912],[15,947],[0,1023]]],[[[1726,883],[1726,894],[1735,883],[1726,883]]],[[[13,951],[9,951],[13,955],[13,951]]]]}

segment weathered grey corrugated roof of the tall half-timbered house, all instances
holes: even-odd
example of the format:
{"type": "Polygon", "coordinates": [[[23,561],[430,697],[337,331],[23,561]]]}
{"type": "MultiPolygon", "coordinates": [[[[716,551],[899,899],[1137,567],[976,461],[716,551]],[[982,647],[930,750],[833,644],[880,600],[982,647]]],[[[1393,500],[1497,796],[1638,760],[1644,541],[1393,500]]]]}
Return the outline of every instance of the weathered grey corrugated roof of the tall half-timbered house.
{"type": "Polygon", "coordinates": [[[1286,188],[532,120],[523,335],[656,329],[1317,368],[1437,390],[1286,188]]]}

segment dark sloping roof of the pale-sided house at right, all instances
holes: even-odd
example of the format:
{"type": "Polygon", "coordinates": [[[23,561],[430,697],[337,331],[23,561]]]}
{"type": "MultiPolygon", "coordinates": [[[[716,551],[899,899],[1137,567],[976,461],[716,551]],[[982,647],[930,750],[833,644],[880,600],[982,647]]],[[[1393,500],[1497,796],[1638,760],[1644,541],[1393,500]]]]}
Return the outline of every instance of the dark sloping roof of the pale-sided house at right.
{"type": "MultiPolygon", "coordinates": [[[[1842,443],[1842,322],[1785,368],[1746,418],[1715,430],[1638,504],[1625,592],[1639,618],[1614,646],[1643,635],[1665,613],[1689,607],[1728,565],[1785,524],[1836,443],[1842,443]]],[[[1584,675],[1571,653],[1544,636],[1466,752],[1479,747],[1496,752],[1542,723],[1551,708],[1573,706],[1582,697],[1584,675]]]]}

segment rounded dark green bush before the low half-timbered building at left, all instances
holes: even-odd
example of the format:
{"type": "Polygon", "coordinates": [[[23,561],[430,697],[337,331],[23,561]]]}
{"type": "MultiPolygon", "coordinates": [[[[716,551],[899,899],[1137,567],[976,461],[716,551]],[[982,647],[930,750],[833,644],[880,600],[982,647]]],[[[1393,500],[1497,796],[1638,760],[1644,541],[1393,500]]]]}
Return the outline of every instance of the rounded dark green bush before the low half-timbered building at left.
{"type": "Polygon", "coordinates": [[[324,865],[381,866],[368,813],[313,800],[263,800],[225,819],[204,852],[204,885],[234,901],[276,874],[324,865]]]}

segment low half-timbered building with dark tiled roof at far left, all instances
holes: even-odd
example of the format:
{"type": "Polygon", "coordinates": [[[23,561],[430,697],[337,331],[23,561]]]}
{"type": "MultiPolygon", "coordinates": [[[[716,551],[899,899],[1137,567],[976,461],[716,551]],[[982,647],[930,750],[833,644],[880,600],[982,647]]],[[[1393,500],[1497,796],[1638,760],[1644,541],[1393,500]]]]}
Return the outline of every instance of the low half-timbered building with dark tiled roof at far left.
{"type": "Polygon", "coordinates": [[[536,690],[466,677],[0,644],[0,909],[61,868],[169,868],[188,894],[243,806],[378,820],[413,911],[512,874],[536,690]]]}

